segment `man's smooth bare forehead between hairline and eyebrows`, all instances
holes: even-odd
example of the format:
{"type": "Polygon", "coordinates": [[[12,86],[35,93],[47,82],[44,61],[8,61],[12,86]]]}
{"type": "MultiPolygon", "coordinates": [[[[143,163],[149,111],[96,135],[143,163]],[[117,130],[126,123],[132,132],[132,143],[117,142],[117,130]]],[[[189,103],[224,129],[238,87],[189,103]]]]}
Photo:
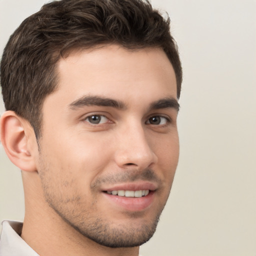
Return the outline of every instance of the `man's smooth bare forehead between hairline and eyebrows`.
{"type": "Polygon", "coordinates": [[[176,98],[175,74],[160,48],[107,45],[76,50],[59,60],[57,76],[58,89],[48,97],[58,95],[66,104],[84,94],[120,100],[139,100],[143,94],[151,101],[154,96],[176,98]]]}

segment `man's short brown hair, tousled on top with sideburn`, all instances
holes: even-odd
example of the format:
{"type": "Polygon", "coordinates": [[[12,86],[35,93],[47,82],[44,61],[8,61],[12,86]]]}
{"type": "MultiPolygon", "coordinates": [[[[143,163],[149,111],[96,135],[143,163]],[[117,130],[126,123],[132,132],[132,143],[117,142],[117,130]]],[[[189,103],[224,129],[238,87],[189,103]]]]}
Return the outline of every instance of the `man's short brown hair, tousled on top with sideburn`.
{"type": "Polygon", "coordinates": [[[29,121],[40,135],[41,107],[57,88],[55,64],[72,49],[117,43],[127,49],[161,47],[176,75],[179,98],[182,69],[169,32],[169,17],[148,0],[59,0],[44,4],[10,36],[0,75],[6,110],[29,121]]]}

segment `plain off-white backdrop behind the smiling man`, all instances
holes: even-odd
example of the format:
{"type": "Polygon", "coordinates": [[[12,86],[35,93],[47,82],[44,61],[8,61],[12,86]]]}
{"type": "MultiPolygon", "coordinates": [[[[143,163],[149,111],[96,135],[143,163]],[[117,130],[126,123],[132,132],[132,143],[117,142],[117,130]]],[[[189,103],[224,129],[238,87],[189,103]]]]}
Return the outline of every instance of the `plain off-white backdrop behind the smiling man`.
{"type": "MultiPolygon", "coordinates": [[[[0,0],[0,52],[44,2],[0,0]]],[[[157,231],[140,253],[255,256],[256,1],[152,4],[169,13],[184,80],[178,168],[157,231]]],[[[20,170],[0,145],[0,220],[23,215],[20,170]]]]}

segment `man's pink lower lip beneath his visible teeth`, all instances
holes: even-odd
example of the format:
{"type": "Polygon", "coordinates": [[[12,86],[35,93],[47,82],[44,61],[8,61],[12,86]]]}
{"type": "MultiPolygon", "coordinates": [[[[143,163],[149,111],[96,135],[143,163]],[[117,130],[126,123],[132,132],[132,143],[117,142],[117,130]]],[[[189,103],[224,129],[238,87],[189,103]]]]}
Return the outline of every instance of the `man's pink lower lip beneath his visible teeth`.
{"type": "Polygon", "coordinates": [[[142,211],[153,203],[154,191],[150,191],[148,195],[142,197],[126,197],[104,193],[104,196],[115,205],[128,211],[142,211]]]}

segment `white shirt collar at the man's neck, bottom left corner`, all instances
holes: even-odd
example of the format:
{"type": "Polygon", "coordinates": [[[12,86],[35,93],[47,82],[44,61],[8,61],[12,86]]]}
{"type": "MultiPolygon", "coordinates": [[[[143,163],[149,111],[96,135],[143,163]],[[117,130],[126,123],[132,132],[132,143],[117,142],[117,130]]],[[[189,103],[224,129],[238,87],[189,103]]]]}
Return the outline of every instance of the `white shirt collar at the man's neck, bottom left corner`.
{"type": "Polygon", "coordinates": [[[39,256],[21,237],[22,222],[2,221],[0,256],[39,256]]]}

